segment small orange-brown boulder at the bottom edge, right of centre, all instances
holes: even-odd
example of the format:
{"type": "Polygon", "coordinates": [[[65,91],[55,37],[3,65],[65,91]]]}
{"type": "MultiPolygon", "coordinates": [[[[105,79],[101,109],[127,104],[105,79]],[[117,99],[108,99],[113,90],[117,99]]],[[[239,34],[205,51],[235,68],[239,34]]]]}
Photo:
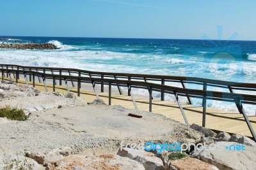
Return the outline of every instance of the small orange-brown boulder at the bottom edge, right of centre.
{"type": "Polygon", "coordinates": [[[172,160],[168,167],[169,170],[218,170],[218,167],[212,166],[202,160],[194,159],[194,158],[182,158],[178,160],[172,160]]]}

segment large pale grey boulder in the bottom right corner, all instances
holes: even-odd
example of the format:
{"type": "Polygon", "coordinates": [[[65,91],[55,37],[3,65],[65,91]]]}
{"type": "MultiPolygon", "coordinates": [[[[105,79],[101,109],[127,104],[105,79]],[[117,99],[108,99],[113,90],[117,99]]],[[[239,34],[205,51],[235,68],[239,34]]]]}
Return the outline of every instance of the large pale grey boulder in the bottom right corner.
{"type": "Polygon", "coordinates": [[[195,157],[204,162],[212,164],[223,170],[240,170],[240,169],[255,169],[256,167],[256,147],[245,146],[245,150],[234,150],[230,145],[241,145],[239,143],[217,141],[216,148],[202,148],[195,150],[191,157],[195,157]],[[231,149],[230,149],[231,148],[231,149]]]}

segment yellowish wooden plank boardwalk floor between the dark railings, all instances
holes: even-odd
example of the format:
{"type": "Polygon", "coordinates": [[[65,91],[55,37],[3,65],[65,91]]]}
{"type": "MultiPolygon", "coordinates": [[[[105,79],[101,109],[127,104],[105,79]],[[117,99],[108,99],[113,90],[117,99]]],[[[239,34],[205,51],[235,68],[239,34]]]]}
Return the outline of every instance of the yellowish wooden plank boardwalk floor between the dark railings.
{"type": "MultiPolygon", "coordinates": [[[[8,78],[4,78],[8,80],[8,78]]],[[[23,83],[23,80],[19,80],[19,83],[23,83]]],[[[32,86],[32,83],[29,82],[29,85],[32,86]]],[[[36,83],[36,89],[45,91],[44,83],[36,83]]],[[[47,89],[51,92],[52,85],[51,83],[47,84],[47,89]]],[[[77,92],[76,87],[70,87],[70,92],[77,92]]],[[[67,93],[65,86],[56,85],[56,92],[67,93]]],[[[108,103],[108,93],[98,92],[99,98],[102,99],[105,103],[108,103]]],[[[92,90],[81,89],[81,97],[86,100],[87,103],[92,103],[96,99],[95,92],[92,90]]],[[[136,104],[138,105],[139,110],[148,111],[148,98],[135,97],[136,104]]],[[[121,105],[124,108],[134,109],[134,104],[132,103],[131,96],[121,96],[119,94],[112,94],[111,98],[112,105],[121,105]]],[[[190,104],[182,104],[182,107],[186,113],[189,124],[198,124],[202,125],[202,107],[195,107],[190,104]]],[[[184,118],[180,112],[179,106],[177,103],[170,103],[168,101],[152,100],[152,112],[164,115],[165,117],[177,120],[179,122],[184,122],[184,118]]],[[[256,117],[248,116],[253,129],[256,131],[256,117]]],[[[161,124],[161,122],[156,122],[161,124]]],[[[214,129],[216,131],[226,131],[233,134],[242,134],[245,136],[252,137],[244,117],[242,114],[230,113],[227,111],[220,111],[213,108],[207,108],[206,112],[206,125],[205,127],[209,129],[214,129]]]]}

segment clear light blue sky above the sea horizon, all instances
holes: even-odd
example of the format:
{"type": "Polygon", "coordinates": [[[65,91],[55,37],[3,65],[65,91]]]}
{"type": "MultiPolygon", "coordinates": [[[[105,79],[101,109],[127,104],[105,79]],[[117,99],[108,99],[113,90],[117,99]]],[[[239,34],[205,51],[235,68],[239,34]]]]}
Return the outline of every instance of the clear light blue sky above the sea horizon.
{"type": "Polygon", "coordinates": [[[255,8],[255,0],[1,0],[0,36],[256,40],[255,8]]]}

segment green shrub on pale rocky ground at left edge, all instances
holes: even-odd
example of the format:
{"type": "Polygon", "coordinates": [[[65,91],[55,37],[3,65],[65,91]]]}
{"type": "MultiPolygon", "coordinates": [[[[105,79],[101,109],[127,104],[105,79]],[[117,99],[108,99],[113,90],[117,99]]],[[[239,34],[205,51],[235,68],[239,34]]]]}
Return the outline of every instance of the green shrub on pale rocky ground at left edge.
{"type": "Polygon", "coordinates": [[[3,106],[0,108],[0,117],[6,117],[10,120],[24,121],[28,119],[25,110],[22,108],[3,106]]]}

